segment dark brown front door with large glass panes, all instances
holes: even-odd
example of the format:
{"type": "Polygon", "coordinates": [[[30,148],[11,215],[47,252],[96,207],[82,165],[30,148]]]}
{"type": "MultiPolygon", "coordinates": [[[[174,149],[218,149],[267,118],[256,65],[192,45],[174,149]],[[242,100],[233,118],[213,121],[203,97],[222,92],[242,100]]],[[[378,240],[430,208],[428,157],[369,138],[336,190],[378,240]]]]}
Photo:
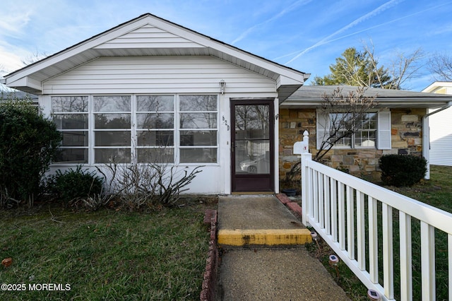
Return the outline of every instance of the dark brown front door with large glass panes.
{"type": "Polygon", "coordinates": [[[232,192],[275,191],[273,100],[231,100],[232,192]]]}

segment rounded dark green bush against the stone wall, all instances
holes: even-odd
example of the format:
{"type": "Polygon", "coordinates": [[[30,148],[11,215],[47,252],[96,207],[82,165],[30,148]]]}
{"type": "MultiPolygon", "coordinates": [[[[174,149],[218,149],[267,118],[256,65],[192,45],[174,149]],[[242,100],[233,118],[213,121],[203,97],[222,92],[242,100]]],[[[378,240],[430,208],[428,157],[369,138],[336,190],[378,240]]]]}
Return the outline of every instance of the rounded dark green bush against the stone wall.
{"type": "Polygon", "coordinates": [[[427,160],[414,155],[383,155],[379,165],[383,184],[396,187],[412,186],[427,172],[427,160]]]}

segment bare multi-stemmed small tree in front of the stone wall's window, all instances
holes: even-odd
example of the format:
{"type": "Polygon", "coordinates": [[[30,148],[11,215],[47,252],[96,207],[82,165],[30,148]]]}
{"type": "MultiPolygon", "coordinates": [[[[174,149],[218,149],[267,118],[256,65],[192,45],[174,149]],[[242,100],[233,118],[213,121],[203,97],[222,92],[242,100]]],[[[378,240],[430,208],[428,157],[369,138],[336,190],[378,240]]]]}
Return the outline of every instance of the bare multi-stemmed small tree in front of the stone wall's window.
{"type": "MultiPolygon", "coordinates": [[[[321,161],[328,151],[343,138],[350,138],[360,129],[363,117],[377,105],[375,96],[364,96],[367,88],[343,93],[337,88],[331,95],[324,94],[320,107],[323,120],[323,136],[318,136],[319,151],[314,155],[315,161],[321,161]]],[[[321,135],[321,133],[317,133],[321,135]]]]}

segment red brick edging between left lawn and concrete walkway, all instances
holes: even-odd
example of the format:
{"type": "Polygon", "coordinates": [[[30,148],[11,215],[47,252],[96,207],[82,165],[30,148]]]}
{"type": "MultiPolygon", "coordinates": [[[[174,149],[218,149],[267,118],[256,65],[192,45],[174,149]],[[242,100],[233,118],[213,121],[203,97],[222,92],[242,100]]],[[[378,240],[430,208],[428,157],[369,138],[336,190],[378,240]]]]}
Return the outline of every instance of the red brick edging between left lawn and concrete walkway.
{"type": "Polygon", "coordinates": [[[201,301],[214,301],[217,290],[219,254],[217,247],[217,211],[206,210],[204,224],[210,224],[209,251],[206,259],[206,270],[204,271],[203,285],[201,288],[201,301]]]}

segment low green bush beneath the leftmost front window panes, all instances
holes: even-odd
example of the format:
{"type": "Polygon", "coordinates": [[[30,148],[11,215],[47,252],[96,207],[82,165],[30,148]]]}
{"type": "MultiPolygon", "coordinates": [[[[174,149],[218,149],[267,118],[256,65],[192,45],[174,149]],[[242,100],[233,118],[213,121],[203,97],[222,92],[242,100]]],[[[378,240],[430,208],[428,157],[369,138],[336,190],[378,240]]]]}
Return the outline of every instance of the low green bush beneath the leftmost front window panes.
{"type": "Polygon", "coordinates": [[[47,186],[50,192],[66,203],[78,199],[95,197],[102,193],[102,178],[95,172],[82,170],[79,165],[76,170],[70,168],[65,172],[57,170],[56,175],[47,179],[47,186]]]}

